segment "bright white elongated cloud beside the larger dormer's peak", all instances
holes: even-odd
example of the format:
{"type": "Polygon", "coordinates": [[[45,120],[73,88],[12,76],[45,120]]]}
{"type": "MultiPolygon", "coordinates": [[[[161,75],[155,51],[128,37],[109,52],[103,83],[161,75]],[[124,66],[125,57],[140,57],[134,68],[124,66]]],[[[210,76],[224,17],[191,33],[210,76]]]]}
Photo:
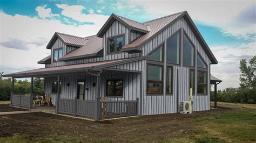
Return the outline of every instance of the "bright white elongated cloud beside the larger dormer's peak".
{"type": "Polygon", "coordinates": [[[56,4],[60,9],[63,9],[61,14],[63,16],[77,20],[78,22],[91,22],[95,25],[102,26],[109,16],[98,15],[98,14],[88,14],[83,13],[85,9],[82,5],[68,5],[68,4],[56,4]]]}

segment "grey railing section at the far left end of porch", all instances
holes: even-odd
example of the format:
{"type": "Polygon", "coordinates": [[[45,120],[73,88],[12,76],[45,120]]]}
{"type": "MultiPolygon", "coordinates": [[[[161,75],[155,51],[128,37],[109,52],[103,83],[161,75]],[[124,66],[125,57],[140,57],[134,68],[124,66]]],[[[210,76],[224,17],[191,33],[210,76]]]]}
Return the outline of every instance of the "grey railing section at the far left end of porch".
{"type": "Polygon", "coordinates": [[[11,105],[29,108],[30,96],[27,95],[11,95],[11,105]]]}

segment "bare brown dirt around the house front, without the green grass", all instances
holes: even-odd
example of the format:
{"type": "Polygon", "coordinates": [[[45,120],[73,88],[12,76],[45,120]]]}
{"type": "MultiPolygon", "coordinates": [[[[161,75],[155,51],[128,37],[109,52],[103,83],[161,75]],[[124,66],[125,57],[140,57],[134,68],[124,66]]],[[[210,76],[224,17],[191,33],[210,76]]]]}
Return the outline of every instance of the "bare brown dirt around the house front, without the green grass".
{"type": "Polygon", "coordinates": [[[30,141],[45,137],[55,141],[161,141],[196,134],[198,130],[192,124],[194,120],[214,117],[229,110],[232,109],[218,108],[191,115],[173,113],[100,122],[42,112],[0,116],[0,137],[25,135],[25,139],[30,141]]]}

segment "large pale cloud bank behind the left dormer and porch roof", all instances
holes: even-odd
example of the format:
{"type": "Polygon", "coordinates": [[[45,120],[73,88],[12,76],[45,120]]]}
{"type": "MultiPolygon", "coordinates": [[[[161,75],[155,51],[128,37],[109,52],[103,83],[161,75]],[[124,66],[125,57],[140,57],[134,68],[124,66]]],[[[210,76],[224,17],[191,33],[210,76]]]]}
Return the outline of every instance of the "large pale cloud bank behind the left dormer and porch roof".
{"type": "MultiPolygon", "coordinates": [[[[101,28],[99,25],[65,25],[57,19],[11,16],[3,12],[0,12],[0,18],[0,41],[8,42],[10,39],[22,41],[24,45],[20,46],[28,49],[25,51],[0,45],[0,70],[5,74],[24,70],[24,67],[28,67],[27,69],[44,67],[37,64],[37,61],[49,55],[50,50],[46,49],[46,45],[55,32],[86,37],[96,34],[101,28]],[[12,67],[15,69],[10,70],[12,67]]],[[[101,23],[104,22],[105,20],[102,19],[101,23]]]]}

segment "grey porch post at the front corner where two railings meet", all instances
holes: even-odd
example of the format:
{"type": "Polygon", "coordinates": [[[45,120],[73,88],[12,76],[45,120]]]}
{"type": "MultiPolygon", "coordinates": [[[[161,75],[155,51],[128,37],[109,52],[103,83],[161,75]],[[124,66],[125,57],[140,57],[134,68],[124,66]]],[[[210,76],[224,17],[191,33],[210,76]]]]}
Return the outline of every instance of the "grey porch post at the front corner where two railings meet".
{"type": "Polygon", "coordinates": [[[95,99],[95,121],[100,119],[100,73],[97,75],[96,83],[96,99],[95,99]]]}

